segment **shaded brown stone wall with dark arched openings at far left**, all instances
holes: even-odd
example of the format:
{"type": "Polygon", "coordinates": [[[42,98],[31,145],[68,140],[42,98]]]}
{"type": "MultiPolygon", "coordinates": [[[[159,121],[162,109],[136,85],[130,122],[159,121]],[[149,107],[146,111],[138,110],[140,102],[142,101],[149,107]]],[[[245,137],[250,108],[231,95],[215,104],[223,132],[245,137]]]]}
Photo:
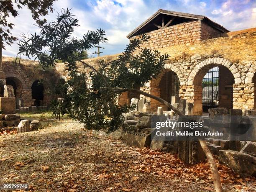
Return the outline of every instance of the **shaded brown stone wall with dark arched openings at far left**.
{"type": "MultiPolygon", "coordinates": [[[[59,73],[54,68],[42,69],[37,61],[21,59],[20,64],[15,63],[15,58],[3,57],[3,71],[8,79],[15,82],[17,87],[16,104],[20,99],[19,107],[31,107],[33,82],[39,80],[44,86],[44,100],[42,105],[48,105],[53,95],[54,83],[60,78],[59,73]]],[[[17,105],[16,107],[19,108],[17,105]]]]}

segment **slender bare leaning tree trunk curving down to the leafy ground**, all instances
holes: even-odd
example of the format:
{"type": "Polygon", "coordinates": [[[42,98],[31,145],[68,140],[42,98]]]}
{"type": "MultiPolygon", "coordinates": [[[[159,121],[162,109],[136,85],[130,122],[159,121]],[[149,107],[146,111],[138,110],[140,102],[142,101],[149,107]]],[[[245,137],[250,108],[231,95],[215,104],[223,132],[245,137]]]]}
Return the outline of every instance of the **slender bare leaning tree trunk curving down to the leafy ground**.
{"type": "MultiPolygon", "coordinates": [[[[161,99],[160,97],[156,97],[154,95],[151,95],[147,92],[143,92],[141,90],[136,90],[136,89],[133,89],[131,90],[133,92],[137,92],[137,93],[140,93],[141,95],[144,95],[146,97],[150,97],[152,99],[155,99],[161,103],[163,103],[164,105],[166,105],[167,107],[171,108],[175,113],[177,113],[178,115],[182,116],[182,118],[186,119],[186,116],[181,113],[177,108],[174,108],[169,102],[167,102],[166,100],[163,100],[161,99]]],[[[207,160],[210,164],[210,167],[211,167],[211,171],[212,171],[212,176],[213,176],[213,183],[214,183],[214,191],[215,192],[221,192],[222,191],[222,187],[221,187],[221,182],[220,182],[220,174],[218,172],[218,168],[217,168],[217,165],[214,161],[214,158],[212,156],[212,153],[210,152],[209,148],[207,147],[207,144],[205,141],[199,141],[206,157],[207,157],[207,160]]]]}

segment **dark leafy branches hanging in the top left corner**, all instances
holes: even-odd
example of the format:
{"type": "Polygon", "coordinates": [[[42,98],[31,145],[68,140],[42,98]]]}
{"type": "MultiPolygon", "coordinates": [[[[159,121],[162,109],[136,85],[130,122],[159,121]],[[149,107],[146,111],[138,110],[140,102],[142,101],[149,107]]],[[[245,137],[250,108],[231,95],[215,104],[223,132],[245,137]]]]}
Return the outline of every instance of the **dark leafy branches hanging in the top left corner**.
{"type": "Polygon", "coordinates": [[[32,18],[38,25],[41,25],[46,20],[40,20],[40,16],[47,15],[49,11],[53,12],[54,1],[56,0],[0,0],[0,47],[5,49],[4,42],[10,45],[18,39],[11,35],[14,24],[8,22],[8,17],[19,15],[17,8],[21,9],[26,6],[31,11],[32,18]]]}

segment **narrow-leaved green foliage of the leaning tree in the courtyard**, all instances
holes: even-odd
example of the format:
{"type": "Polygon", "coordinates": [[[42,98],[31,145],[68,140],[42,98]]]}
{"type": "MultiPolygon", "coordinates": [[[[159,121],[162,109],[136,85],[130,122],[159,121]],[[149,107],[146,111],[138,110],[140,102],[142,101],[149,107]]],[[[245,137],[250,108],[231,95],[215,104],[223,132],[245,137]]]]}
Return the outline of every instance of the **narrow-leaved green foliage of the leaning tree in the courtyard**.
{"type": "Polygon", "coordinates": [[[63,101],[53,103],[54,115],[68,113],[71,118],[85,123],[87,129],[103,130],[107,133],[117,130],[123,124],[123,113],[134,106],[120,106],[116,99],[122,92],[138,89],[156,78],[164,69],[168,55],[159,51],[141,48],[148,36],[141,35],[130,41],[127,48],[114,61],[100,61],[91,72],[78,72],[77,53],[107,41],[105,31],[89,31],[82,39],[71,38],[78,20],[70,10],[58,15],[57,21],[40,26],[41,33],[24,37],[19,43],[20,53],[35,56],[43,67],[53,66],[56,59],[67,61],[69,78],[64,87],[67,94],[63,101]],[[91,81],[88,81],[91,79],[91,81]]]}

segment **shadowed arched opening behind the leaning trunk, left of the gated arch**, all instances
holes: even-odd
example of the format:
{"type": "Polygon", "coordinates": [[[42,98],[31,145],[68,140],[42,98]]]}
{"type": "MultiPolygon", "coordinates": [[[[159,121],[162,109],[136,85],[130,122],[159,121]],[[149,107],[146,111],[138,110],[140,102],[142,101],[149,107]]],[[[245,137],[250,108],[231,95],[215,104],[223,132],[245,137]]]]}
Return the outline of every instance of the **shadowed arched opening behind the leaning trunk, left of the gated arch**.
{"type": "MultiPolygon", "coordinates": [[[[180,81],[177,74],[171,70],[165,70],[156,79],[151,80],[150,94],[171,102],[172,96],[179,96],[180,81]]],[[[157,107],[169,110],[165,105],[156,100],[151,100],[151,109],[156,111],[157,107]]]]}

